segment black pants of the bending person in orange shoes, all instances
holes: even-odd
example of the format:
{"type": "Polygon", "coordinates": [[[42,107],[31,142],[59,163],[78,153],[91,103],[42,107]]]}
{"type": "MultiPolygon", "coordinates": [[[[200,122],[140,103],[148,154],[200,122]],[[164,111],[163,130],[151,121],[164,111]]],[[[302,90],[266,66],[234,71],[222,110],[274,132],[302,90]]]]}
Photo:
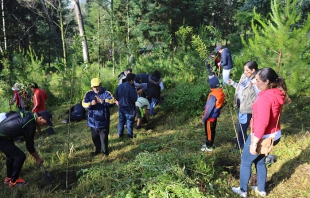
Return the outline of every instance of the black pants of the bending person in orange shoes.
{"type": "Polygon", "coordinates": [[[0,151],[6,155],[6,176],[15,182],[19,178],[26,155],[9,139],[0,139],[0,151]]]}

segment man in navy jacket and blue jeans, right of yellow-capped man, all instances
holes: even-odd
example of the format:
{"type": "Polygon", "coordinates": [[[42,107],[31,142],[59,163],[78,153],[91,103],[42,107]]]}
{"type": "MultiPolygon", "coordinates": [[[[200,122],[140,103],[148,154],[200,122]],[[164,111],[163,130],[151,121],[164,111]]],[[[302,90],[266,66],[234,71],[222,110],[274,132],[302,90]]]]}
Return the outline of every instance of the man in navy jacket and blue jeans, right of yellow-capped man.
{"type": "Polygon", "coordinates": [[[127,127],[127,137],[133,138],[133,123],[136,116],[135,102],[138,95],[134,86],[135,75],[127,74],[126,82],[120,84],[115,91],[116,104],[118,105],[118,137],[123,137],[124,125],[127,127]]]}

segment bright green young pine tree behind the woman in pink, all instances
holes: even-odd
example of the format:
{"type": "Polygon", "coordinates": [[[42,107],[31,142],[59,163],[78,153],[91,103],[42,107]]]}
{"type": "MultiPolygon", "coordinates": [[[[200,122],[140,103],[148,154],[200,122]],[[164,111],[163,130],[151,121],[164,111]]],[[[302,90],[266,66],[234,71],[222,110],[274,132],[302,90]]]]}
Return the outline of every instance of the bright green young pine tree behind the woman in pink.
{"type": "Polygon", "coordinates": [[[246,51],[259,62],[260,68],[271,67],[286,78],[291,94],[302,93],[309,87],[309,59],[303,54],[309,48],[308,32],[310,15],[301,21],[298,0],[271,1],[270,20],[254,10],[252,29],[254,38],[246,45],[246,51]],[[300,83],[300,82],[304,83],[300,83]]]}

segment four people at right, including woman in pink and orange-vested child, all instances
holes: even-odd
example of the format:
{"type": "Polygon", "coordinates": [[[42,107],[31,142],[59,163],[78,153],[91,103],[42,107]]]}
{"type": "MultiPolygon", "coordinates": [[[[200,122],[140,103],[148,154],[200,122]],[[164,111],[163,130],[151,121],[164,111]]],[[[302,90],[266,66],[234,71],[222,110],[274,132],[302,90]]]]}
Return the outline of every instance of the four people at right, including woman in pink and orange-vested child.
{"type": "Polygon", "coordinates": [[[222,46],[217,46],[215,51],[221,53],[221,60],[215,59],[215,61],[218,66],[223,67],[223,86],[220,86],[219,77],[210,70],[210,65],[207,65],[211,92],[207,97],[202,116],[206,144],[201,150],[213,151],[214,149],[217,118],[225,101],[223,87],[231,85],[235,88],[234,106],[238,109],[238,134],[233,150],[242,150],[240,186],[233,187],[232,191],[241,197],[247,197],[251,167],[254,164],[257,186],[252,188],[258,195],[264,197],[267,177],[266,155],[257,152],[257,145],[261,139],[270,137],[274,139],[274,146],[280,141],[282,107],[285,102],[290,101],[285,80],[272,68],[258,69],[255,61],[248,61],[244,64],[244,73],[240,80],[235,82],[229,78],[233,67],[230,51],[222,46]],[[248,135],[249,125],[251,125],[251,133],[248,135]]]}

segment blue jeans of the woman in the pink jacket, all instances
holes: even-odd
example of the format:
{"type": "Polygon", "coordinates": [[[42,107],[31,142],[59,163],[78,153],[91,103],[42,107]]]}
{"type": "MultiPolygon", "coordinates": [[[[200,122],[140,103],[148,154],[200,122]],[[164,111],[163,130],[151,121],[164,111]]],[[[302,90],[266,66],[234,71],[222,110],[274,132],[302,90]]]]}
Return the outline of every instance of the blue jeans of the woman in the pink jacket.
{"type": "Polygon", "coordinates": [[[251,177],[251,167],[254,163],[257,175],[257,188],[259,191],[265,191],[267,168],[265,164],[265,155],[252,155],[250,153],[251,135],[249,135],[241,156],[240,166],[240,188],[247,192],[248,183],[251,177]]]}

